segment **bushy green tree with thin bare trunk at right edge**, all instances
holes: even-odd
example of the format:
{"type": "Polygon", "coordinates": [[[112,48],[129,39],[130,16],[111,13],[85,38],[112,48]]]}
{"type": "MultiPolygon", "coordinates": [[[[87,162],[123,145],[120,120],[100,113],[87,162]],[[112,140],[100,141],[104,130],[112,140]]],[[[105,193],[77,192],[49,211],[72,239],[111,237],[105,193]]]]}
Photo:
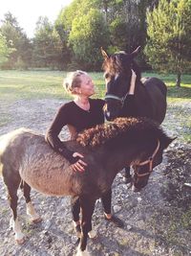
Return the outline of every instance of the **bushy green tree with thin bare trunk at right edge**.
{"type": "Polygon", "coordinates": [[[160,0],[159,7],[147,13],[149,63],[162,72],[175,72],[177,86],[191,64],[191,0],[160,0]]]}

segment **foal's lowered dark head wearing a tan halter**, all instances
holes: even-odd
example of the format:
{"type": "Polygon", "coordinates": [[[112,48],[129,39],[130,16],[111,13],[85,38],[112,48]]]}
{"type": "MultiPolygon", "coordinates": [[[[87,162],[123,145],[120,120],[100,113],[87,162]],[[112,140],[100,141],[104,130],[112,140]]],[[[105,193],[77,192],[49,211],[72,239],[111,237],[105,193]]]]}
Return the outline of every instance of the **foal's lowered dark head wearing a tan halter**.
{"type": "Polygon", "coordinates": [[[162,162],[163,151],[174,139],[175,138],[170,138],[166,135],[161,140],[158,139],[152,152],[149,154],[146,153],[146,157],[145,153],[143,153],[143,158],[138,159],[138,161],[133,164],[134,177],[132,189],[134,192],[140,191],[147,185],[149,176],[153,172],[153,169],[162,162]]]}

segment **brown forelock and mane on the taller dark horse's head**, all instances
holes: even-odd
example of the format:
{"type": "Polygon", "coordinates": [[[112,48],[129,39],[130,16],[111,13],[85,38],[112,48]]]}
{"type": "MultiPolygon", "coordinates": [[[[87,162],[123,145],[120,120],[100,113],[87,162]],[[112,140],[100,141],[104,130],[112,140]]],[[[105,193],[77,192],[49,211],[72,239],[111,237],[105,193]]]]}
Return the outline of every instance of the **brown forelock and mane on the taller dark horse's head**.
{"type": "Polygon", "coordinates": [[[141,78],[141,72],[138,67],[138,63],[135,60],[131,60],[130,63],[127,62],[125,52],[118,52],[112,55],[110,58],[107,58],[103,61],[102,68],[103,70],[109,71],[111,74],[117,74],[120,72],[125,72],[127,68],[131,68],[135,71],[138,81],[141,78]]]}

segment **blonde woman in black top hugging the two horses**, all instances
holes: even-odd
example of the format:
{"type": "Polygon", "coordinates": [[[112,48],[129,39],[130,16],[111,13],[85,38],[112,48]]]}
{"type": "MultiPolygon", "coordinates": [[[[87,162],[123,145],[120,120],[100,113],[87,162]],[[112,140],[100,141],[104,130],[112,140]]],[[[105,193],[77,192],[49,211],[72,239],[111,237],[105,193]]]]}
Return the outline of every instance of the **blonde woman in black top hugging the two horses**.
{"type": "MultiPolygon", "coordinates": [[[[74,172],[85,172],[87,164],[83,161],[83,155],[64,148],[58,135],[63,127],[68,126],[71,138],[74,139],[76,134],[83,129],[104,123],[102,110],[104,101],[90,98],[95,94],[95,85],[86,72],[75,71],[67,78],[64,86],[68,92],[74,95],[74,101],[61,105],[58,109],[53,123],[46,133],[46,141],[54,151],[61,153],[73,164],[74,172]]],[[[111,214],[112,191],[107,192],[101,199],[105,219],[122,227],[123,222],[111,214]]],[[[79,199],[72,198],[74,228],[78,236],[80,235],[79,212],[79,199]]]]}

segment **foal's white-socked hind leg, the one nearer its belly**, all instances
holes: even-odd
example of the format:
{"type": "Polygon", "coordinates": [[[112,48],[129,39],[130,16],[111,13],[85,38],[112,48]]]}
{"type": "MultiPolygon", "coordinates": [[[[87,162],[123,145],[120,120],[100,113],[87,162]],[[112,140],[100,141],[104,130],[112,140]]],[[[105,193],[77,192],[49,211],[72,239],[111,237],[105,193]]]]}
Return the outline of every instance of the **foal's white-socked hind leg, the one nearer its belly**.
{"type": "Polygon", "coordinates": [[[38,222],[42,221],[42,219],[40,218],[40,216],[36,213],[36,211],[33,208],[32,199],[30,197],[30,193],[31,193],[32,189],[25,181],[22,181],[22,182],[24,183],[23,184],[23,195],[24,195],[26,203],[27,203],[27,214],[30,216],[33,223],[38,223],[38,222]]]}

